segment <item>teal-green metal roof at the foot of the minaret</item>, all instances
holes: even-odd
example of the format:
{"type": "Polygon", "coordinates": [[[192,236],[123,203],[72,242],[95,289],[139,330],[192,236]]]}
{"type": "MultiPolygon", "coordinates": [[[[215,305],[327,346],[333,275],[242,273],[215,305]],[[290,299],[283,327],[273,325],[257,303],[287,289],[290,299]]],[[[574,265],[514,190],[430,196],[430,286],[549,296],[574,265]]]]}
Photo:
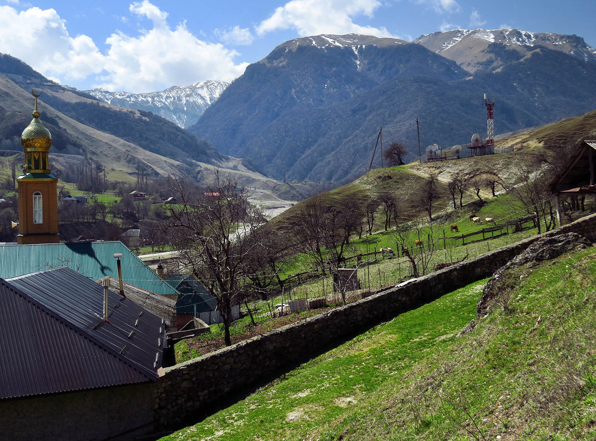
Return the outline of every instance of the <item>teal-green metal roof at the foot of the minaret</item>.
{"type": "Polygon", "coordinates": [[[105,276],[118,278],[114,253],[122,253],[122,278],[126,283],[156,294],[178,294],[120,241],[1,245],[0,278],[60,266],[68,266],[94,281],[105,276]]]}

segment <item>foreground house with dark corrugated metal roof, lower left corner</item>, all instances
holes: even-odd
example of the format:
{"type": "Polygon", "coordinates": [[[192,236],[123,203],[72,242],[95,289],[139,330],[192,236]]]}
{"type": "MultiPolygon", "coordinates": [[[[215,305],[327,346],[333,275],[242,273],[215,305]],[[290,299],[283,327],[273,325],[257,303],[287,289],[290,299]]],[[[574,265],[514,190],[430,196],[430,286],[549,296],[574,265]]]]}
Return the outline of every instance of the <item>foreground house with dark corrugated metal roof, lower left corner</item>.
{"type": "Polygon", "coordinates": [[[11,440],[153,431],[163,319],[70,268],[0,279],[0,427],[11,440]],[[134,411],[131,411],[134,409],[134,411]]]}

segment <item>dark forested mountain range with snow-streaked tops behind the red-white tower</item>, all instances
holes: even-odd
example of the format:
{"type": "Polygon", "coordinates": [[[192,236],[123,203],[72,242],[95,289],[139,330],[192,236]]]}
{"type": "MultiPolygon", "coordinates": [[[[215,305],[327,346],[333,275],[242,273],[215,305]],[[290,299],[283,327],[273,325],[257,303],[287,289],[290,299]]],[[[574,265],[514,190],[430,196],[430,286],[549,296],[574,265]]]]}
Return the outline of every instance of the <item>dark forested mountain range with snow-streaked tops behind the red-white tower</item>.
{"type": "MultiPolygon", "coordinates": [[[[578,36],[457,30],[408,43],[362,35],[293,39],[247,67],[188,130],[281,179],[343,184],[383,140],[422,147],[593,110],[595,49],[578,36]]],[[[375,164],[380,164],[377,154],[375,164]]]]}

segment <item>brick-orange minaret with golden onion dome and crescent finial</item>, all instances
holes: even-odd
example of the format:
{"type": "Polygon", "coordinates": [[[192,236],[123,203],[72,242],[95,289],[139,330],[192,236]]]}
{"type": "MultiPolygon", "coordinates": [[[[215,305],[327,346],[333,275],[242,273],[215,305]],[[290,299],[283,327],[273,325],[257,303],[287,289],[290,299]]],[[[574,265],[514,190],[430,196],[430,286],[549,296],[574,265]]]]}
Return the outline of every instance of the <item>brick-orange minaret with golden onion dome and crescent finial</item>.
{"type": "Polygon", "coordinates": [[[59,243],[58,178],[49,169],[48,152],[52,135],[39,120],[38,97],[35,89],[33,120],[21,134],[25,153],[23,174],[18,176],[18,236],[20,244],[59,243]]]}

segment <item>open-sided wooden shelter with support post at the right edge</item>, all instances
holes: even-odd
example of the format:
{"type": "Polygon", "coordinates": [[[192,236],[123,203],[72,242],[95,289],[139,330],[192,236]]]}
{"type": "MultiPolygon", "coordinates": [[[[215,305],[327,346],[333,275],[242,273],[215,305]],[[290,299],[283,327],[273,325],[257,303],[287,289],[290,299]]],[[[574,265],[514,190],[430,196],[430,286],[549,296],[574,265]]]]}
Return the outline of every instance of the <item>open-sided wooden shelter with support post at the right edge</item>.
{"type": "Polygon", "coordinates": [[[596,153],[594,150],[596,150],[596,140],[583,141],[551,181],[550,190],[555,195],[558,225],[561,225],[561,196],[583,197],[596,194],[594,180],[596,153]]]}

